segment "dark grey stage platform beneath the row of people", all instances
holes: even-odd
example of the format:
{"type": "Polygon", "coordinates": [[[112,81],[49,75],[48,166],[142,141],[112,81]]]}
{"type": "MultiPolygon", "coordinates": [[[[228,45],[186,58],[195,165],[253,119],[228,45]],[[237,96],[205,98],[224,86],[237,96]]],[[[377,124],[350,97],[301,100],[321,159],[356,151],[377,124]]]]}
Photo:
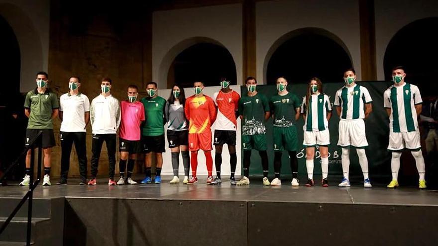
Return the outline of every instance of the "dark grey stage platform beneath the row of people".
{"type": "MultiPolygon", "coordinates": [[[[162,184],[38,187],[64,199],[64,245],[437,245],[438,192],[361,184],[338,188],[162,184]]],[[[55,183],[55,180],[52,180],[55,183]]],[[[0,203],[25,187],[0,187],[0,203]]],[[[3,206],[4,207],[4,206],[3,206]]],[[[2,208],[0,204],[0,208],[2,208]]],[[[38,209],[38,207],[36,208],[38,209]]],[[[41,208],[40,208],[41,209],[41,208]]],[[[4,216],[4,215],[2,215],[4,216]]],[[[37,243],[37,242],[36,242],[37,243]]]]}

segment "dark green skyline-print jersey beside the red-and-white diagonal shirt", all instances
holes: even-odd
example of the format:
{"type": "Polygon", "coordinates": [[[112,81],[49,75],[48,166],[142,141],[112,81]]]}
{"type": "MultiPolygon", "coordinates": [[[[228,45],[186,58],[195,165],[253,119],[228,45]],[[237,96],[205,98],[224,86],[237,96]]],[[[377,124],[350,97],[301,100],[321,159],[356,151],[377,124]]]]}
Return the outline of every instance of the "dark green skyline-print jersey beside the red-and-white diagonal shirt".
{"type": "Polygon", "coordinates": [[[266,96],[259,92],[255,96],[243,96],[239,101],[239,115],[243,115],[242,135],[266,134],[265,112],[269,112],[266,96]]]}

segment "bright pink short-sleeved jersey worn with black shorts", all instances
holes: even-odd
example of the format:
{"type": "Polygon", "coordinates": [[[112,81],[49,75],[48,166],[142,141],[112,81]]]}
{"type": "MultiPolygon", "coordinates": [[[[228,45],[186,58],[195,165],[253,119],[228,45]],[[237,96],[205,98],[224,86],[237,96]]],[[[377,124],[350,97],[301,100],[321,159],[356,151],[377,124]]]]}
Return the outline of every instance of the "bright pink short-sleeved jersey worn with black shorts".
{"type": "Polygon", "coordinates": [[[122,101],[119,137],[130,141],[140,140],[140,124],[144,120],[143,103],[122,101]]]}

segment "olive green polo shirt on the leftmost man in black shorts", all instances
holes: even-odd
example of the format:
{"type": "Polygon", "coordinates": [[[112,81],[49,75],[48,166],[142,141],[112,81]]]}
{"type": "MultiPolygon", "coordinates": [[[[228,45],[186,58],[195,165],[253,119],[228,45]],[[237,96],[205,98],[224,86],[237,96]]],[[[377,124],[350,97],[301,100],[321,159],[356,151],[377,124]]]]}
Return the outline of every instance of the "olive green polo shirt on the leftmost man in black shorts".
{"type": "Polygon", "coordinates": [[[59,108],[58,97],[46,89],[44,94],[37,89],[27,92],[24,107],[30,109],[27,129],[53,129],[53,109],[59,108]]]}

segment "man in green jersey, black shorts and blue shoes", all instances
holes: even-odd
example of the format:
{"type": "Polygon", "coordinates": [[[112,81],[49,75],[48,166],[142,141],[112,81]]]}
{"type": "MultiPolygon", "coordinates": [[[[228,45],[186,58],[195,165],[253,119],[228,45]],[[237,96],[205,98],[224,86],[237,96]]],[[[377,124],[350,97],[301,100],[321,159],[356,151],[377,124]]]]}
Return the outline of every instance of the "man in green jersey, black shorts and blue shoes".
{"type": "Polygon", "coordinates": [[[164,114],[166,99],[158,96],[158,86],[155,82],[149,82],[146,85],[147,97],[141,99],[143,103],[146,121],[143,122],[142,127],[142,143],[143,151],[146,154],[146,177],[141,181],[142,184],[152,183],[151,166],[152,166],[152,152],[155,153],[156,160],[156,184],[161,183],[161,167],[163,166],[163,152],[164,150],[164,114]]]}

